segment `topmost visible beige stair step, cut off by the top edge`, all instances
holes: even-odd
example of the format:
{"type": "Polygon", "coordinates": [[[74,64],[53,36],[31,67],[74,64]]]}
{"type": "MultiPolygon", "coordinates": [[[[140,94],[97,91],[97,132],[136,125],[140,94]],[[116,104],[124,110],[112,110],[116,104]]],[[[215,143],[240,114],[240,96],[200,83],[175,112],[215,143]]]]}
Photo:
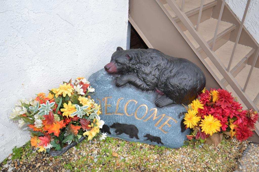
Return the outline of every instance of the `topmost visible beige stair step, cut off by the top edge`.
{"type": "MultiPolygon", "coordinates": [[[[179,7],[181,8],[182,5],[182,0],[176,0],[175,1],[179,7]]],[[[185,0],[184,2],[184,7],[183,7],[183,12],[187,15],[189,13],[192,14],[196,14],[195,12],[198,11],[199,12],[199,8],[200,8],[200,2],[201,0],[185,0]],[[195,12],[194,12],[195,11],[195,12]]],[[[217,1],[214,0],[204,0],[204,6],[207,4],[213,4],[213,6],[215,6],[217,4],[217,1]]],[[[176,17],[174,19],[177,19],[178,17],[176,16],[175,12],[171,9],[171,7],[166,3],[163,4],[164,7],[166,8],[166,10],[169,12],[169,14],[172,17],[176,17]]],[[[210,7],[209,7],[210,8],[210,7]]],[[[203,10],[205,10],[205,8],[203,8],[203,10]]],[[[197,12],[197,13],[198,13],[197,12]]],[[[187,15],[188,16],[188,15],[187,15]]],[[[188,16],[189,17],[189,16],[188,16]]],[[[176,21],[177,22],[177,21],[176,21]]]]}

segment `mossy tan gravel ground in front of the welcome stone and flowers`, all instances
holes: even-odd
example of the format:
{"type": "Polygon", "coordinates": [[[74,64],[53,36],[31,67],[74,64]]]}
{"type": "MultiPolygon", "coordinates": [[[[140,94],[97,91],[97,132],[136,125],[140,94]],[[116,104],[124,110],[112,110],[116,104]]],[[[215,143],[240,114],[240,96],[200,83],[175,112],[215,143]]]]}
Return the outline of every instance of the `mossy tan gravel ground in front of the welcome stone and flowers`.
{"type": "Polygon", "coordinates": [[[0,163],[0,171],[233,171],[248,145],[224,136],[217,148],[192,144],[170,149],[107,137],[100,143],[85,140],[52,157],[35,152],[28,142],[0,163]]]}

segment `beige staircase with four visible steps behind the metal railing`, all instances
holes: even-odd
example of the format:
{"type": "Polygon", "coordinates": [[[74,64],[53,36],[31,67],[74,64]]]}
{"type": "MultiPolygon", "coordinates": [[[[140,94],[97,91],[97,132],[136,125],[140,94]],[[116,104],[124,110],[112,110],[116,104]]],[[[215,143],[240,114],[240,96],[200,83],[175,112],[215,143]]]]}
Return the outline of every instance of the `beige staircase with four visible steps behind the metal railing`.
{"type": "MultiPolygon", "coordinates": [[[[199,44],[195,41],[192,35],[181,23],[179,18],[175,15],[174,11],[170,8],[170,6],[166,3],[166,1],[161,1],[165,9],[169,12],[171,17],[175,20],[175,22],[182,29],[185,36],[190,40],[194,48],[200,53],[200,55],[205,59],[205,62],[212,69],[212,71],[216,74],[219,80],[223,83],[225,88],[232,92],[232,95],[237,97],[239,102],[242,103],[244,109],[246,109],[246,105],[240,100],[235,91],[230,87],[230,85],[226,82],[224,77],[221,75],[220,71],[215,67],[212,61],[207,57],[207,55],[203,52],[203,50],[199,47],[199,44]]],[[[185,0],[183,12],[190,19],[193,25],[196,25],[198,20],[198,13],[200,7],[201,0],[185,0]]],[[[182,1],[176,0],[176,3],[181,7],[182,1]]],[[[212,18],[213,8],[217,5],[217,1],[214,0],[204,0],[204,7],[202,11],[202,16],[200,20],[200,24],[198,27],[198,32],[202,37],[207,41],[209,45],[212,44],[215,28],[218,22],[218,19],[212,18]]],[[[218,56],[220,61],[227,67],[229,63],[229,59],[231,57],[231,53],[234,47],[234,42],[230,41],[231,34],[236,30],[235,24],[220,21],[218,34],[216,37],[216,42],[213,48],[215,54],[218,56]]],[[[236,81],[243,88],[246,82],[249,70],[251,65],[248,64],[249,58],[255,53],[255,49],[251,48],[247,45],[238,44],[233,61],[231,63],[230,72],[235,77],[236,81]]],[[[247,89],[245,94],[256,104],[259,109],[259,69],[254,68],[251,74],[250,80],[248,82],[247,89]]]]}

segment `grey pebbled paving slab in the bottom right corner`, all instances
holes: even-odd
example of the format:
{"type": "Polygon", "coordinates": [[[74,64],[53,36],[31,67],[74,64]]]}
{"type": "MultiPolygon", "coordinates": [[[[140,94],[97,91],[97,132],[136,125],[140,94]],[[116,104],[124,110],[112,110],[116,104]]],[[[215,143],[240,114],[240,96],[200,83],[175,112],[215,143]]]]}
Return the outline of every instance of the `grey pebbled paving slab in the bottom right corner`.
{"type": "Polygon", "coordinates": [[[259,171],[259,144],[251,143],[238,160],[238,171],[259,171]]]}

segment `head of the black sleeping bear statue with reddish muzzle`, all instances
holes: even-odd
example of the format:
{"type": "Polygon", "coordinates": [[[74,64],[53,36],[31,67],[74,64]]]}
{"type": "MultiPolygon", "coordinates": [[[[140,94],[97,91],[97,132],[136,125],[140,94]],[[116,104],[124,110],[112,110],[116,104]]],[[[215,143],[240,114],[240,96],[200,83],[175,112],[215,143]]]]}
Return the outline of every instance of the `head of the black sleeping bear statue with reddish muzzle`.
{"type": "Polygon", "coordinates": [[[104,69],[110,74],[126,74],[130,72],[130,61],[132,56],[127,50],[117,47],[117,50],[112,54],[111,62],[104,66],[104,69]]]}

